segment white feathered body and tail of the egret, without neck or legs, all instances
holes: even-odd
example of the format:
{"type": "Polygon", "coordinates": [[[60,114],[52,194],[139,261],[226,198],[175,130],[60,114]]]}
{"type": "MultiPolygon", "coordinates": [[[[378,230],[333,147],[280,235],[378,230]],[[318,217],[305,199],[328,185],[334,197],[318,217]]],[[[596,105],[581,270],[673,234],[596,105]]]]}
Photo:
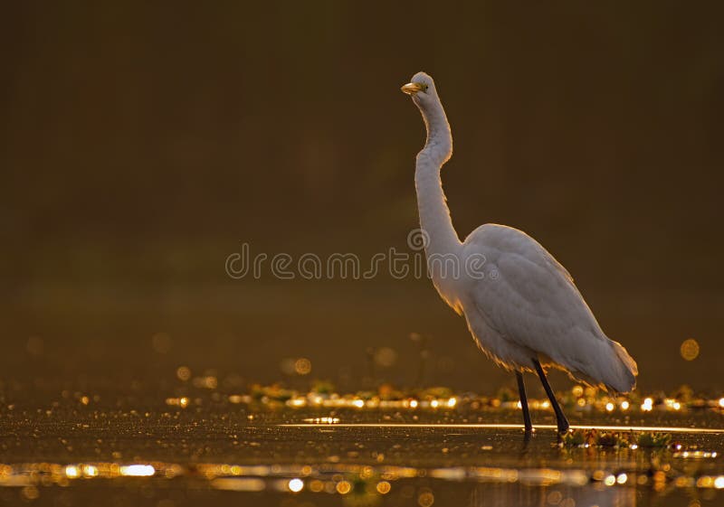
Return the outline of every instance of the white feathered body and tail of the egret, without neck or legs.
{"type": "Polygon", "coordinates": [[[468,287],[462,307],[491,359],[533,371],[531,358],[542,354],[543,364],[579,380],[619,392],[633,389],[635,362],[605,336],[566,268],[538,241],[486,224],[465,239],[462,256],[468,251],[485,256],[488,276],[468,287]]]}

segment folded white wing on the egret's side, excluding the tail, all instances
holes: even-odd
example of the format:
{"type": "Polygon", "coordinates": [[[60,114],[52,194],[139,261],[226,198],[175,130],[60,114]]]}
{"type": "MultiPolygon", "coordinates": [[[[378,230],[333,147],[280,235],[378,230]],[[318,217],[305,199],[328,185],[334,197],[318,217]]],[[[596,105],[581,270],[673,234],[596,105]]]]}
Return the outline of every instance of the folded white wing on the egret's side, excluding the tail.
{"type": "Polygon", "coordinates": [[[569,370],[586,367],[586,342],[607,340],[573,277],[526,233],[486,224],[465,239],[463,251],[486,258],[486,276],[469,296],[506,339],[569,370]]]}

